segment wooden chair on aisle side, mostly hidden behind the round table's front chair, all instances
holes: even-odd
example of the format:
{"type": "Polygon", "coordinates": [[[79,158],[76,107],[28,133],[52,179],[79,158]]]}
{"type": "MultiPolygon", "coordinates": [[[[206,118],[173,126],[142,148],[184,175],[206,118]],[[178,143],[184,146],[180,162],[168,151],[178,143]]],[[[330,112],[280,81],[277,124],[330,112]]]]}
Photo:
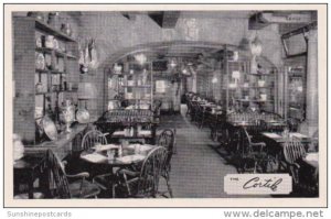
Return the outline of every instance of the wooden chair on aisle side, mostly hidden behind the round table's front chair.
{"type": "Polygon", "coordinates": [[[161,176],[166,179],[168,191],[159,191],[159,194],[163,197],[167,197],[166,194],[169,193],[170,197],[172,198],[172,189],[170,186],[170,171],[171,171],[171,157],[174,150],[175,144],[175,130],[166,129],[159,135],[157,141],[157,145],[163,146],[167,149],[167,157],[164,163],[164,168],[162,169],[161,176]]]}

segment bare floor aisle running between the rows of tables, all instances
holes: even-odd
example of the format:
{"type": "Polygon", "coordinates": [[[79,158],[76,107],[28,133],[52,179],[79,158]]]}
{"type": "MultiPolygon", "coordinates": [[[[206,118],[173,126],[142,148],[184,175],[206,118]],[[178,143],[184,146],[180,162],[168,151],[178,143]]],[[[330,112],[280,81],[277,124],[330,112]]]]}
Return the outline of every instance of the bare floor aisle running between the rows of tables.
{"type": "MultiPolygon", "coordinates": [[[[162,116],[160,130],[177,129],[177,154],[171,161],[171,187],[174,198],[226,198],[223,189],[226,174],[236,168],[213,150],[207,128],[199,129],[184,116],[162,116]]],[[[232,196],[233,197],[233,196],[232,196]]]]}

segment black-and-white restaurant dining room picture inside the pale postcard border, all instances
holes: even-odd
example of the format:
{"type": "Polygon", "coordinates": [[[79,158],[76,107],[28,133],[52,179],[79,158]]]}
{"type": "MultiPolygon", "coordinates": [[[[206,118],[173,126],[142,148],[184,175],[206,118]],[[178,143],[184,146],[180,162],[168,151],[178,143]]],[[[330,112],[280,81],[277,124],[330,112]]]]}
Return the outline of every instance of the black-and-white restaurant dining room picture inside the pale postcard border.
{"type": "Polygon", "coordinates": [[[321,195],[318,11],[47,10],[11,13],[13,199],[321,195]]]}

